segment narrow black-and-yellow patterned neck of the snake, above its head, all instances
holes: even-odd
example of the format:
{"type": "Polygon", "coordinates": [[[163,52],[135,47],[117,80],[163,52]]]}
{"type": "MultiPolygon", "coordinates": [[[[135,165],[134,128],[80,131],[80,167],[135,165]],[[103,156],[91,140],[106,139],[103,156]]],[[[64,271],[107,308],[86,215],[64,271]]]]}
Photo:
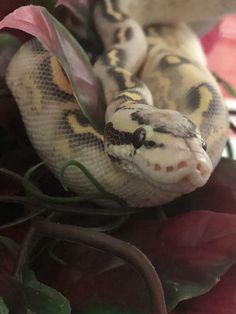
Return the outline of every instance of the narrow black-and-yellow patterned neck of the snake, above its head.
{"type": "Polygon", "coordinates": [[[105,48],[94,69],[104,89],[106,119],[124,105],[124,99],[129,102],[142,98],[144,103],[152,105],[148,88],[136,75],[148,47],[141,25],[124,14],[120,1],[102,1],[96,6],[94,17],[105,48]]]}

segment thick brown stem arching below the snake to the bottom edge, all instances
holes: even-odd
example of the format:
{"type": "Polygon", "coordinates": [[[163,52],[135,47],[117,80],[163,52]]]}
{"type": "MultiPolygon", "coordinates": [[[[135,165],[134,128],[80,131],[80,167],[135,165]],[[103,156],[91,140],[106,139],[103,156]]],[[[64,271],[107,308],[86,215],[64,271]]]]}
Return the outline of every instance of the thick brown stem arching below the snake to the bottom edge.
{"type": "MultiPolygon", "coordinates": [[[[52,222],[39,222],[37,223],[36,233],[46,237],[60,239],[69,242],[79,242],[95,249],[100,249],[122,258],[131,264],[140,273],[147,285],[148,291],[151,296],[153,314],[167,314],[165,305],[165,298],[160,279],[155,271],[150,260],[136,247],[129,243],[116,239],[110,235],[88,231],[86,228],[67,226],[56,224],[52,222]]],[[[28,249],[34,231],[26,239],[26,247],[28,249]]],[[[23,250],[23,253],[25,252],[23,250]]],[[[24,254],[26,255],[26,254],[24,254]]],[[[19,269],[23,267],[22,263],[25,262],[25,257],[19,259],[19,269]]]]}

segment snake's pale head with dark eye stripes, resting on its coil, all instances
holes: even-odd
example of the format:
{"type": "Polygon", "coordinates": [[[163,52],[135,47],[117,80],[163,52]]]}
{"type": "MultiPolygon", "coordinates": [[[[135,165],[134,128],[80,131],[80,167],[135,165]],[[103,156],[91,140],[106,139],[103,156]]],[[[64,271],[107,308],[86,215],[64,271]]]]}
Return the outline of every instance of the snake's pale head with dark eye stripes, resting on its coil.
{"type": "Polygon", "coordinates": [[[180,194],[204,185],[213,170],[196,125],[172,110],[151,106],[118,110],[106,124],[105,145],[119,167],[180,194]]]}

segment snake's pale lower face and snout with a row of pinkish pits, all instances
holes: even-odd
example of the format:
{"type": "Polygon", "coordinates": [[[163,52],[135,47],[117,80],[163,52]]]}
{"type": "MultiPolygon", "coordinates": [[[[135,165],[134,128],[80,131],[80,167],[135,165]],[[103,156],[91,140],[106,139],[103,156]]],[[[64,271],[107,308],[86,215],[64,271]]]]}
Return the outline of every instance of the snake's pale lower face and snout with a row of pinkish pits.
{"type": "Polygon", "coordinates": [[[178,150],[176,147],[165,147],[133,156],[142,178],[154,186],[168,186],[168,190],[181,194],[203,186],[213,171],[211,159],[199,147],[197,139],[191,139],[188,145],[184,145],[184,141],[179,140],[178,150]]]}

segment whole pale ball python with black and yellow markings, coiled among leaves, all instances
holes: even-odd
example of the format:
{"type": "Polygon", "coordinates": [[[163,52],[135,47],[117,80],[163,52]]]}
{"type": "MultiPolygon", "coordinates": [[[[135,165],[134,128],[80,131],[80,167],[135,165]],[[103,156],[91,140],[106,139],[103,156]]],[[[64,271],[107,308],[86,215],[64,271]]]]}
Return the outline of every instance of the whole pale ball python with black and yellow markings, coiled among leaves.
{"type": "MultiPolygon", "coordinates": [[[[228,116],[197,36],[183,23],[150,24],[140,12],[130,0],[94,9],[104,44],[94,64],[107,103],[104,133],[82,114],[61,65],[37,40],[19,49],[6,81],[31,142],[57,177],[66,161],[78,160],[128,206],[151,207],[207,182],[228,116]]],[[[64,184],[97,192],[75,167],[64,184]]]]}

